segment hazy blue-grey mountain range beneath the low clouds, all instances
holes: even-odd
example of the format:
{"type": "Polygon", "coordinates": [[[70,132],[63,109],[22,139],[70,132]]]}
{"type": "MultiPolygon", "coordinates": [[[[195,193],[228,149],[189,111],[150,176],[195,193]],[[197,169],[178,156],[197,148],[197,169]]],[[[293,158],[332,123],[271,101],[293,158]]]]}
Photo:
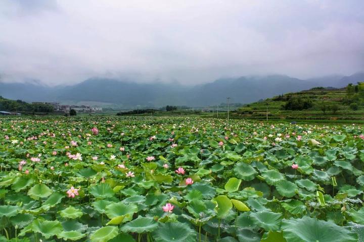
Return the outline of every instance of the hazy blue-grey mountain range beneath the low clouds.
{"type": "Polygon", "coordinates": [[[124,108],[186,105],[216,105],[231,97],[234,103],[249,103],[312,87],[345,87],[364,81],[364,73],[301,80],[283,75],[223,78],[212,83],[184,86],[172,83],[135,83],[129,80],[91,78],[73,86],[48,87],[37,83],[2,83],[0,95],[10,99],[58,101],[61,103],[112,103],[124,108]]]}

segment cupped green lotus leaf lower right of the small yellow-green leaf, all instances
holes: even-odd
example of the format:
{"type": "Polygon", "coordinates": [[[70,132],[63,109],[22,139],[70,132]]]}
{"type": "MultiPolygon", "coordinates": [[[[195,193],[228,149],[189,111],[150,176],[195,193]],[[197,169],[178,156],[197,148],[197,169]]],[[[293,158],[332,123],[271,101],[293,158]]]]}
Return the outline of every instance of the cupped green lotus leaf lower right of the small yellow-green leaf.
{"type": "Polygon", "coordinates": [[[265,231],[277,231],[281,227],[282,214],[269,211],[259,211],[250,214],[251,219],[265,231]]]}

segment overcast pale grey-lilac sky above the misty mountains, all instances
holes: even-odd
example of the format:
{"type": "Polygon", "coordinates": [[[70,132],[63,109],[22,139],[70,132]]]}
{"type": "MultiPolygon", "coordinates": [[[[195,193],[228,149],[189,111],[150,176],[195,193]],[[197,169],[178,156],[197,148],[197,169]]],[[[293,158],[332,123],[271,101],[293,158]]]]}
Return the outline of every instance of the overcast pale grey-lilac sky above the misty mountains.
{"type": "Polygon", "coordinates": [[[363,0],[1,0],[3,81],[364,71],[363,0]]]}

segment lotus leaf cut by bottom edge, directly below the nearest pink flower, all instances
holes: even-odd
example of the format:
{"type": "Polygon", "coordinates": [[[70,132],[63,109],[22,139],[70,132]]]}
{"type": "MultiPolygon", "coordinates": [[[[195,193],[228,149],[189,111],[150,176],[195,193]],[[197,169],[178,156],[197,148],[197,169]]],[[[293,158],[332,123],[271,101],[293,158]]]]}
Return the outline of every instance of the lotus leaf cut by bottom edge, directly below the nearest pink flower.
{"type": "Polygon", "coordinates": [[[196,242],[197,233],[187,223],[168,222],[161,224],[153,238],[158,242],[196,242]]]}

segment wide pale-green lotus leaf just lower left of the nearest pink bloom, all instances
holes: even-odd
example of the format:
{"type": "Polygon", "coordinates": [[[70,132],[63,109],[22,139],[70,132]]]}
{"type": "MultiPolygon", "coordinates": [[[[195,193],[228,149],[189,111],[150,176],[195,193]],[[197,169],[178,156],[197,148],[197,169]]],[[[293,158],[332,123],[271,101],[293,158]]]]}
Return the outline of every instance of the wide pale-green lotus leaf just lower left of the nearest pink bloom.
{"type": "Polygon", "coordinates": [[[145,233],[152,232],[158,228],[158,222],[153,218],[139,216],[138,218],[124,224],[120,230],[124,233],[145,233]]]}

